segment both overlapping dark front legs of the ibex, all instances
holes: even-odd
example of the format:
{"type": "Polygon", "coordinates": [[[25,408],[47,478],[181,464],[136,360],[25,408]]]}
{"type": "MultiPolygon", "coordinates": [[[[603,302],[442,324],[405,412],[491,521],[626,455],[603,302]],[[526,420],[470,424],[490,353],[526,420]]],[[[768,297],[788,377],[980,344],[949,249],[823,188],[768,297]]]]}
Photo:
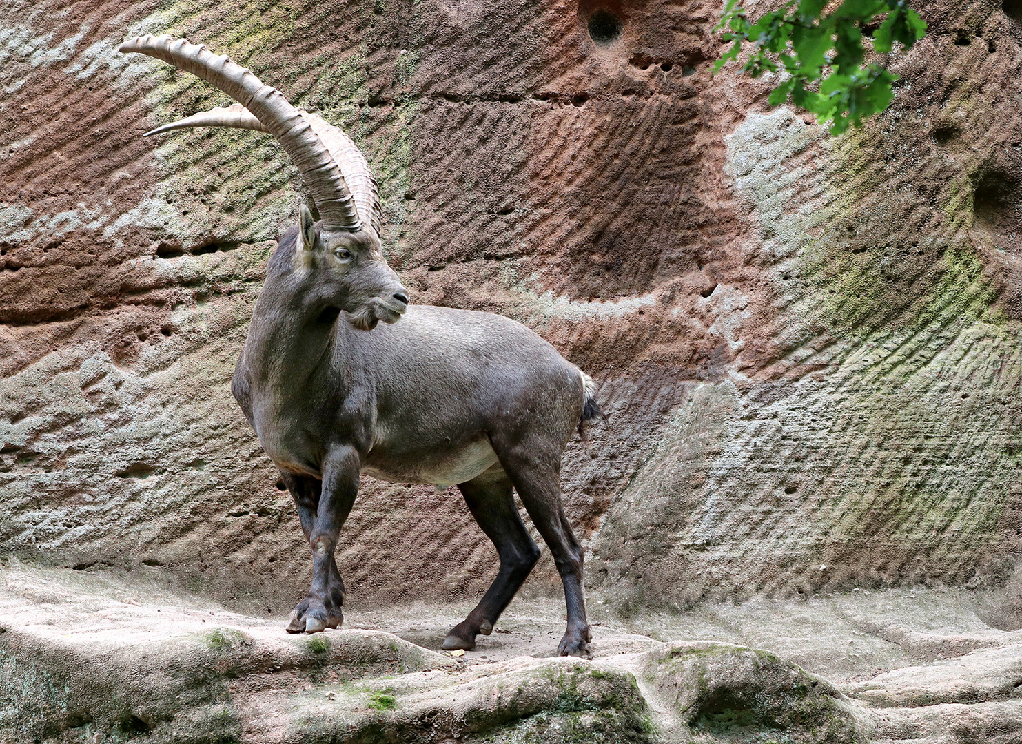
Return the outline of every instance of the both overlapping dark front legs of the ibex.
{"type": "Polygon", "coordinates": [[[313,551],[312,586],[309,595],[291,611],[288,633],[316,633],[338,627],[343,621],[340,606],[344,601],[344,585],[337,571],[334,550],[337,534],[359,491],[360,463],[355,450],[341,448],[324,461],[322,483],[305,476],[285,476],[285,483],[294,495],[301,529],[313,551]]]}

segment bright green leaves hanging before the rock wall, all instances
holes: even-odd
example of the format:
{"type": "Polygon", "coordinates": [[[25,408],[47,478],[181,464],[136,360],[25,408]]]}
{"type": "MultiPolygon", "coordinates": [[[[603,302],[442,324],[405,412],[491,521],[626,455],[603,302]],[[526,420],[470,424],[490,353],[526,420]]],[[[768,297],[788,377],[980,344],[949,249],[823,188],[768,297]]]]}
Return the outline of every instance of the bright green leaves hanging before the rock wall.
{"type": "Polygon", "coordinates": [[[897,79],[885,66],[865,64],[869,40],[874,51],[887,54],[895,44],[905,49],[923,38],[926,24],[907,0],[843,0],[831,12],[831,0],[788,0],[777,11],[750,20],[739,0],[728,0],[714,31],[734,44],[716,61],[714,72],[738,60],[742,45],[751,54],[742,71],[752,77],[784,71],[784,82],[770,96],[779,105],[792,102],[833,121],[831,132],[840,134],[849,124],[883,111],[894,97],[897,79]]]}

